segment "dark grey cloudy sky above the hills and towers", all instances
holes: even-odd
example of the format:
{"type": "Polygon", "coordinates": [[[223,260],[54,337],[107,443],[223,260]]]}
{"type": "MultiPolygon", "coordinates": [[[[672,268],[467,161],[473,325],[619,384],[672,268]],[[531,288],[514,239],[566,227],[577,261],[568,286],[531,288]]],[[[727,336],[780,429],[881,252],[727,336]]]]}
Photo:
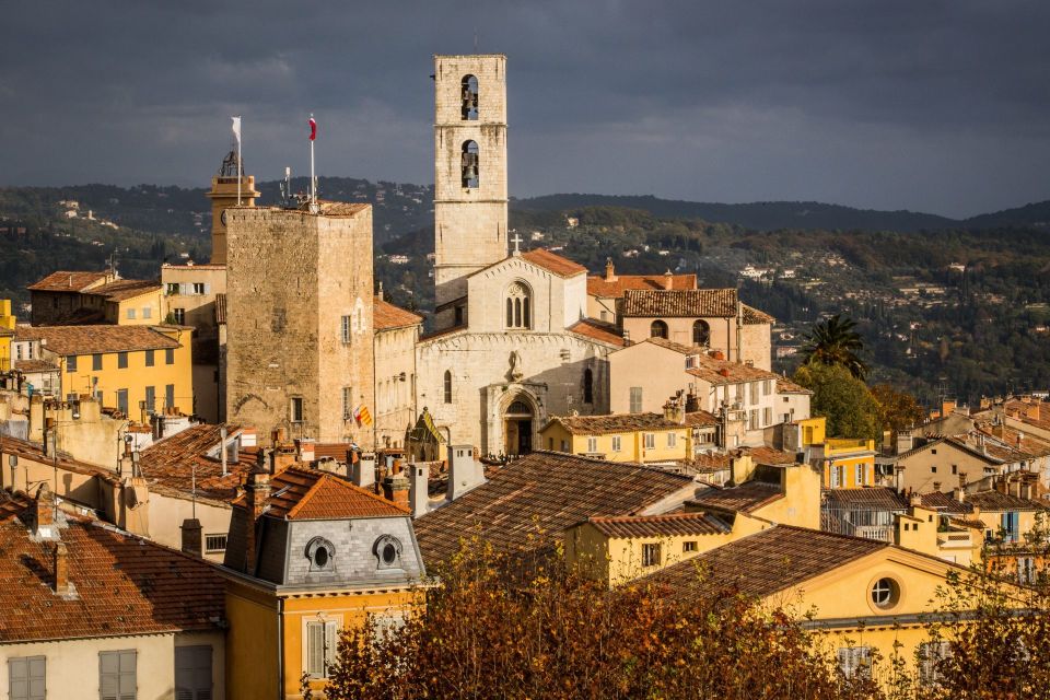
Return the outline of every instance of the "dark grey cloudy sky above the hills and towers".
{"type": "Polygon", "coordinates": [[[1050,198],[1046,0],[0,0],[0,185],[433,182],[434,54],[508,57],[510,190],[967,217],[1050,198]]]}

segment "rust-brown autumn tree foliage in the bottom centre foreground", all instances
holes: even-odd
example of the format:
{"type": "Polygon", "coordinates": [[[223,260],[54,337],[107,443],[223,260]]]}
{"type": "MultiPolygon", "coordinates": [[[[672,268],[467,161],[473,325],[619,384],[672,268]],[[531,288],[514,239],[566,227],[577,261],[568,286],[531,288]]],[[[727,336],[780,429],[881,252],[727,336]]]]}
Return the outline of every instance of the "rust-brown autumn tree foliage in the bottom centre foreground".
{"type": "Polygon", "coordinates": [[[782,610],[732,591],[688,603],[644,582],[610,591],[559,562],[523,568],[471,542],[441,568],[425,614],[342,634],[327,698],[878,697],[782,610]]]}

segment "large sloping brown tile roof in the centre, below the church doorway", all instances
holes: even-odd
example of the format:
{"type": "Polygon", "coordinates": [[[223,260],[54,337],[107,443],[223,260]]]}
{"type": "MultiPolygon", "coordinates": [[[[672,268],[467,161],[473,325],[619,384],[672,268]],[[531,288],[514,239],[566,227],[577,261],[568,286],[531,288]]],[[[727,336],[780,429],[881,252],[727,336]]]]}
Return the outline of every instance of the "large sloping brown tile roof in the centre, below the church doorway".
{"type": "Polygon", "coordinates": [[[534,452],[413,524],[425,561],[447,561],[474,534],[497,550],[550,547],[571,525],[631,515],[690,489],[692,479],[631,463],[534,452]]]}

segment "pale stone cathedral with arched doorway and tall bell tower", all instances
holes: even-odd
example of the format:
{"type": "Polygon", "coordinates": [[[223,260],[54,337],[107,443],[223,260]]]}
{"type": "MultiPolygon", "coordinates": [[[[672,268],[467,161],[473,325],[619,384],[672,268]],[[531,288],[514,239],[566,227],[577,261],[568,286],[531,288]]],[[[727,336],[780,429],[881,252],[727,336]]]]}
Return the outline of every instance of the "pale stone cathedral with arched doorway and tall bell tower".
{"type": "Polygon", "coordinates": [[[606,413],[615,326],[587,318],[587,270],[508,235],[506,58],[434,58],[434,329],[417,406],[451,444],[529,452],[551,416],[606,413]]]}

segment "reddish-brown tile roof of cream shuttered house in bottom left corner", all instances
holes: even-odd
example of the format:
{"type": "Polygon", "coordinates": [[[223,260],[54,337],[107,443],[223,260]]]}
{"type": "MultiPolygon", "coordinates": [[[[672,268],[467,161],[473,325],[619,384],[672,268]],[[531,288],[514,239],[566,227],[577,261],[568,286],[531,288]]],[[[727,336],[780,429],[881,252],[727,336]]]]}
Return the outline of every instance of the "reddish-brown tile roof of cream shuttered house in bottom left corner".
{"type": "MultiPolygon", "coordinates": [[[[63,517],[63,516],[60,516],[63,517]]],[[[65,516],[69,581],[54,593],[54,547],[0,524],[0,639],[30,642],[219,629],[224,583],[199,559],[116,528],[65,516]]]]}

